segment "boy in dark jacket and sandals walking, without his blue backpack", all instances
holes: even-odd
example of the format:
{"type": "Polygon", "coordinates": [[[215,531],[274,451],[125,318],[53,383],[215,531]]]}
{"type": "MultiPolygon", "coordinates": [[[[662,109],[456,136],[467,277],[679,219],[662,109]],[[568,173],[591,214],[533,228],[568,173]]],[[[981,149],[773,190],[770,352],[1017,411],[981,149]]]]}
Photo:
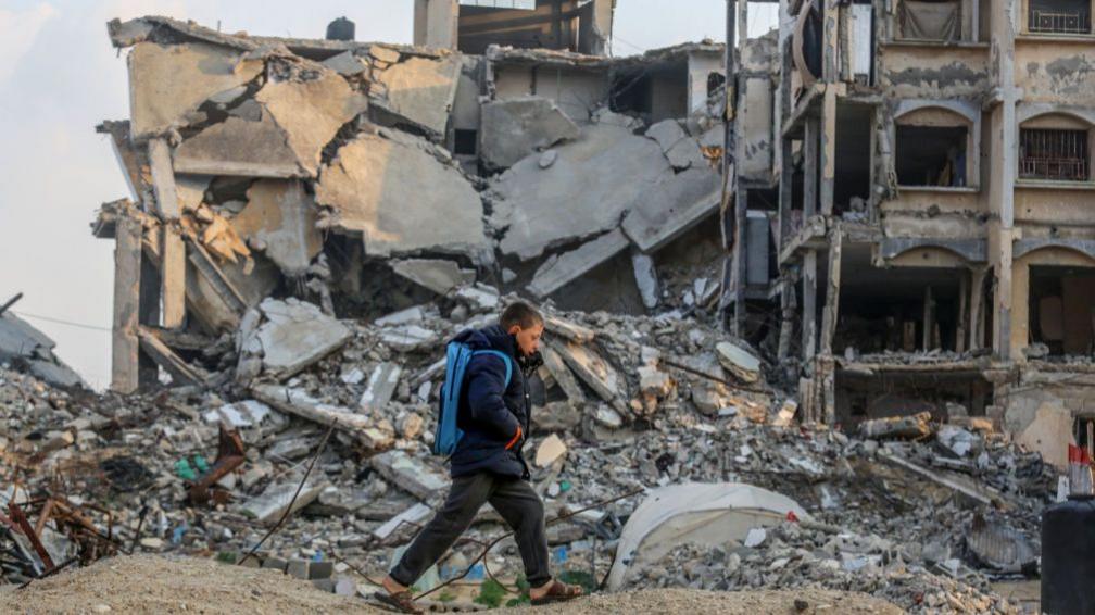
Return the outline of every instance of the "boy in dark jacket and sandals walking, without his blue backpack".
{"type": "Polygon", "coordinates": [[[543,316],[517,301],[503,311],[497,325],[456,337],[472,350],[496,350],[506,358],[477,352],[468,364],[457,411],[463,438],[450,460],[452,487],[445,504],[384,578],[387,593],[378,592],[377,597],[385,604],[404,613],[422,613],[407,588],[445,555],[486,502],[514,530],[533,604],[581,595],[580,587],[552,580],[544,507],[528,481],[529,466],[521,454],[531,416],[528,378],[540,364],[543,329],[543,316]],[[508,384],[507,372],[511,374],[508,384]]]}

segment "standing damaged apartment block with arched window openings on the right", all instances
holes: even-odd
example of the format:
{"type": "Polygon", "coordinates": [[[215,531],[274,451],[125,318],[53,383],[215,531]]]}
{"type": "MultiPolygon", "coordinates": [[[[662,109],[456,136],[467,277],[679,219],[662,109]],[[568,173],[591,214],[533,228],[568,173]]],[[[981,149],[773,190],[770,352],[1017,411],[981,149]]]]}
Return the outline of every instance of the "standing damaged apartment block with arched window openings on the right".
{"type": "Polygon", "coordinates": [[[777,76],[734,55],[722,304],[797,380],[807,418],[965,410],[1054,451],[1090,441],[1091,15],[1086,0],[782,1],[777,76]]]}

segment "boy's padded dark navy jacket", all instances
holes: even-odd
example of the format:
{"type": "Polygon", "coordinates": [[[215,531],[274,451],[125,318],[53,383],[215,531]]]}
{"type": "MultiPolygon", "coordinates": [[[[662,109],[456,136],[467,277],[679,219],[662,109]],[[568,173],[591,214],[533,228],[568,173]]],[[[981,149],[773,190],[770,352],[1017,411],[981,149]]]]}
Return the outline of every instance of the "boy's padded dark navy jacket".
{"type": "Polygon", "coordinates": [[[472,357],[457,410],[457,426],[464,436],[450,459],[452,477],[486,471],[528,479],[529,467],[521,455],[525,438],[506,449],[514,441],[518,425],[523,436],[528,436],[531,418],[528,379],[518,360],[517,340],[500,326],[492,325],[462,332],[454,341],[466,344],[472,350],[500,350],[511,358],[512,375],[506,386],[506,365],[500,357],[492,353],[472,357]]]}

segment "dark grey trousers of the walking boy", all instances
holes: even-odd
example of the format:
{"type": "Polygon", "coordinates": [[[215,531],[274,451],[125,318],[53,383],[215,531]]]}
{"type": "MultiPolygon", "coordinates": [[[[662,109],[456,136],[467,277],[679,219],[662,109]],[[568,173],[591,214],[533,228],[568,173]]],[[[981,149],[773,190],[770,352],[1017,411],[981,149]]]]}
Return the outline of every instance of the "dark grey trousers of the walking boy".
{"type": "Polygon", "coordinates": [[[481,472],[452,479],[452,488],[441,510],[415,536],[391,576],[402,585],[412,585],[468,530],[475,513],[491,502],[514,530],[517,548],[525,560],[525,578],[539,588],[551,580],[548,570],[548,535],[544,504],[532,486],[520,478],[481,472]]]}

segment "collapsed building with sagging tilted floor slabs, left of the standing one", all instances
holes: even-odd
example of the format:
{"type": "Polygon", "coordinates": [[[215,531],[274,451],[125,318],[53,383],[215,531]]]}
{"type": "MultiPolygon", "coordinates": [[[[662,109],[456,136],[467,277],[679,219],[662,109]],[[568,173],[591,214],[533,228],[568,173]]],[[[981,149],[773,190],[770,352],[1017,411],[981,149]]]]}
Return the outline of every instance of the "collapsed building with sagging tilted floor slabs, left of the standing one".
{"type": "Polygon", "coordinates": [[[239,379],[224,351],[267,297],[374,318],[488,285],[713,312],[725,46],[610,57],[612,10],[419,1],[413,46],[347,20],[110,23],[130,102],[99,127],[130,187],[93,223],[117,246],[113,388],[239,379]]]}

